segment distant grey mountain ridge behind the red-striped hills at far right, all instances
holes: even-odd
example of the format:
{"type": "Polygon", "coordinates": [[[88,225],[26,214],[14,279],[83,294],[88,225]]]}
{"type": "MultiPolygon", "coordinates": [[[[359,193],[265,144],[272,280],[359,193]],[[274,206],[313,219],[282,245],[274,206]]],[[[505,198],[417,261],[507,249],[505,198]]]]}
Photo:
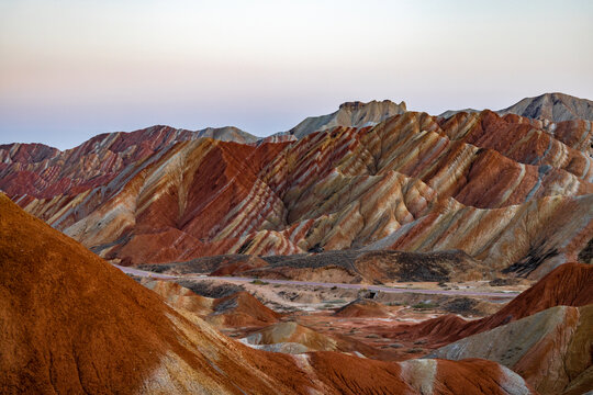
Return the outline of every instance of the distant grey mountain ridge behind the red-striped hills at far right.
{"type": "MultiPolygon", "coordinates": [[[[449,119],[460,112],[480,112],[474,109],[448,110],[439,116],[449,119]]],[[[580,99],[564,93],[544,93],[535,98],[525,98],[519,102],[499,111],[499,115],[516,114],[533,120],[551,122],[593,121],[593,101],[580,99]]]]}

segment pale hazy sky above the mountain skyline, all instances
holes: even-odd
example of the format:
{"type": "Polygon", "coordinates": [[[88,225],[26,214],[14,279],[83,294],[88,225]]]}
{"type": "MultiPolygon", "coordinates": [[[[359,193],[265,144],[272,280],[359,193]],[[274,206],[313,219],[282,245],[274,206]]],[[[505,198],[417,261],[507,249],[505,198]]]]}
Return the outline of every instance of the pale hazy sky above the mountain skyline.
{"type": "Polygon", "coordinates": [[[593,1],[0,0],[0,144],[593,99],[593,1]]]}

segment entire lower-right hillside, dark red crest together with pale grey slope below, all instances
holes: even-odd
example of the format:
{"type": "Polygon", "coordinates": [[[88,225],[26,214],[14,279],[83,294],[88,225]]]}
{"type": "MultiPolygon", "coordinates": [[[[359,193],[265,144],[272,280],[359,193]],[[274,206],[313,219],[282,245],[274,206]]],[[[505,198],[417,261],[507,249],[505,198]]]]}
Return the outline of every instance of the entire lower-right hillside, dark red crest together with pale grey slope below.
{"type": "Polygon", "coordinates": [[[448,315],[394,336],[443,346],[427,358],[496,361],[541,394],[583,394],[593,388],[592,334],[593,267],[567,263],[489,317],[448,315]]]}

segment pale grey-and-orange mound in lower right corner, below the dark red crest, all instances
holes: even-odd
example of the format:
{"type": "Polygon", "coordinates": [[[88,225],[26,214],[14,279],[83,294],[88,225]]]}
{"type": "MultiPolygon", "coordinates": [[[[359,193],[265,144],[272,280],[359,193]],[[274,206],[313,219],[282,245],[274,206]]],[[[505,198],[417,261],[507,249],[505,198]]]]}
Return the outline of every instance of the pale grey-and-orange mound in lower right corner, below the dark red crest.
{"type": "Polygon", "coordinates": [[[557,306],[445,346],[428,358],[483,358],[514,370],[541,394],[593,388],[593,304],[557,306]]]}

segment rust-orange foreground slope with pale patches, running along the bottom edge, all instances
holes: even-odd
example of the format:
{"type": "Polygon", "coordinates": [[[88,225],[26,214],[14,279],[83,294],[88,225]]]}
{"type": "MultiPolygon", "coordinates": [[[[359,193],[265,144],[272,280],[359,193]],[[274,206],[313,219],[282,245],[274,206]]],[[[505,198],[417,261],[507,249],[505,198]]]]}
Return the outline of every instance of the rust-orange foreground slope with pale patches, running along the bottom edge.
{"type": "Polygon", "coordinates": [[[0,382],[5,393],[530,394],[495,362],[286,356],[167,306],[0,194],[0,382]]]}

